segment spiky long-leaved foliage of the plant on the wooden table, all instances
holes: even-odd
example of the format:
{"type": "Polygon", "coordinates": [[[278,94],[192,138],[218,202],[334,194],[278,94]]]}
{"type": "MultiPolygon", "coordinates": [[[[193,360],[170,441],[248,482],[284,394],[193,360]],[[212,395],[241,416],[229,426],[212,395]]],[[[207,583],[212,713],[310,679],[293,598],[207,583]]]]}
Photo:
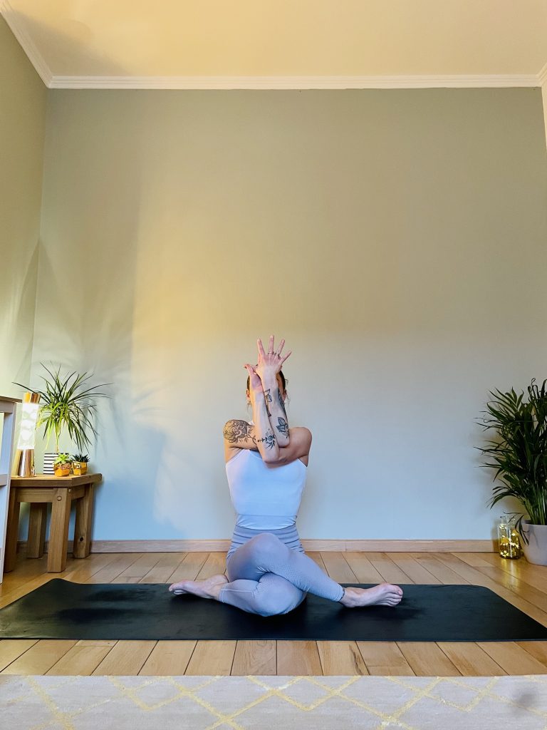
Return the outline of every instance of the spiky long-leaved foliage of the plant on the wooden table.
{"type": "Polygon", "coordinates": [[[66,429],[69,437],[74,441],[80,450],[90,446],[90,434],[97,436],[93,426],[93,415],[96,412],[95,399],[106,396],[106,393],[98,391],[110,383],[100,385],[89,385],[91,375],[87,372],[79,374],[72,372],[68,377],[61,377],[61,366],[56,370],[50,370],[41,363],[47,375],[40,375],[44,380],[44,390],[34,390],[28,385],[15,383],[27,391],[39,393],[40,410],[36,428],[44,426],[44,437],[46,444],[50,438],[55,437],[55,451],[59,453],[59,439],[61,431],[66,429]],[[49,376],[49,377],[48,377],[49,376]]]}

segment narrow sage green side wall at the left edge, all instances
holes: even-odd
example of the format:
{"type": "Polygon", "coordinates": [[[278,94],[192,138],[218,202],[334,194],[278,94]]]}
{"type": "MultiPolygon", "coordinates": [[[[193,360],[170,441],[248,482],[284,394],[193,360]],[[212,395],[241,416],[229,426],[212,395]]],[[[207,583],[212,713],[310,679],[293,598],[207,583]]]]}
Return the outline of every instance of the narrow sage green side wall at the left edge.
{"type": "Polygon", "coordinates": [[[28,380],[47,88],[0,17],[0,394],[28,380]]]}

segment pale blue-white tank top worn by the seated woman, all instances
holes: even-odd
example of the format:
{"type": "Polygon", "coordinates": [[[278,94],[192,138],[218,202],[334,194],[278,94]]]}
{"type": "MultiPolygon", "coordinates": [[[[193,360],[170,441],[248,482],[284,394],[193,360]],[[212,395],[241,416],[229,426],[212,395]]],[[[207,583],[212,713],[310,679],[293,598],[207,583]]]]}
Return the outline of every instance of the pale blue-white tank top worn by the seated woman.
{"type": "Polygon", "coordinates": [[[236,526],[268,530],[294,525],[306,472],[299,458],[283,466],[267,466],[260,452],[241,449],[226,462],[236,526]]]}

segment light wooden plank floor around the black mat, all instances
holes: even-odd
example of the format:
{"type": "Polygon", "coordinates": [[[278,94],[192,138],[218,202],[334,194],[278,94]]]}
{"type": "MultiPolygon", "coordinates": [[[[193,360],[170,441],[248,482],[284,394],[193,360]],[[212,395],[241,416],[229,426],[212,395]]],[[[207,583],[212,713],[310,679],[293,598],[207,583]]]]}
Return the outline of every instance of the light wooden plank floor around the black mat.
{"type": "MultiPolygon", "coordinates": [[[[485,585],[547,626],[547,567],[496,553],[306,553],[338,583],[485,585]]],[[[18,557],[0,607],[53,577],[78,583],[173,583],[225,572],[225,553],[92,553],[47,573],[18,557]]],[[[396,609],[394,609],[396,610],[396,609]]],[[[533,675],[547,642],[0,641],[11,675],[533,675]]]]}

